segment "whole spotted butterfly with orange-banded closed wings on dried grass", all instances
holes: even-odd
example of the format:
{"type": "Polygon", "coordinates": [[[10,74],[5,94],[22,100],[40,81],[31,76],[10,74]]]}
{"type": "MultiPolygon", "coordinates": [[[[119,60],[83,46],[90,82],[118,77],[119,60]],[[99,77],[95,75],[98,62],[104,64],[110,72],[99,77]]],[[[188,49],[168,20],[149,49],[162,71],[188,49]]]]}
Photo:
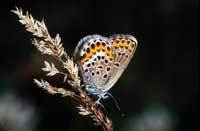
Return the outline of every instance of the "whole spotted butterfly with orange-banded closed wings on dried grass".
{"type": "Polygon", "coordinates": [[[113,87],[128,66],[137,47],[135,37],[115,34],[109,37],[83,37],[74,51],[85,89],[89,94],[108,98],[113,87]]]}

